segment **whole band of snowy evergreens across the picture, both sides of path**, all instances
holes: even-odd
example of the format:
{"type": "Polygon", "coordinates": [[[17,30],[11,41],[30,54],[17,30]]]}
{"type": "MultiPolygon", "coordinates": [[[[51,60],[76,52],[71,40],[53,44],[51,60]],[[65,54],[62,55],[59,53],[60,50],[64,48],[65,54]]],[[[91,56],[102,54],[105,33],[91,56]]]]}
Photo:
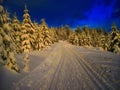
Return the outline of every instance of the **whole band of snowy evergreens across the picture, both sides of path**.
{"type": "Polygon", "coordinates": [[[104,50],[120,53],[120,31],[115,24],[108,33],[101,29],[77,27],[74,31],[68,25],[49,28],[45,19],[41,24],[33,22],[29,10],[25,6],[23,20],[14,14],[10,18],[9,12],[0,6],[0,65],[20,72],[16,63],[15,54],[24,54],[25,72],[29,71],[29,53],[34,50],[43,50],[58,42],[66,40],[76,46],[101,47],[104,50]]]}

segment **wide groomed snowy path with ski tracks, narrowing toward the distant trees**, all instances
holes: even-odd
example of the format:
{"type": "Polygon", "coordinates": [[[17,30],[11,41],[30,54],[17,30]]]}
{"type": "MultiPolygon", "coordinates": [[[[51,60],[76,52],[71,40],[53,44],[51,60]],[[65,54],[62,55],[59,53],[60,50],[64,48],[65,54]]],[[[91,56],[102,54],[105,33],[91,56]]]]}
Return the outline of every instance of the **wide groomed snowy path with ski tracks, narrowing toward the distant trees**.
{"type": "MultiPolygon", "coordinates": [[[[115,90],[91,67],[85,55],[67,42],[57,43],[43,62],[15,82],[12,90],[115,90]]],[[[95,52],[97,53],[97,51],[95,52]]]]}

